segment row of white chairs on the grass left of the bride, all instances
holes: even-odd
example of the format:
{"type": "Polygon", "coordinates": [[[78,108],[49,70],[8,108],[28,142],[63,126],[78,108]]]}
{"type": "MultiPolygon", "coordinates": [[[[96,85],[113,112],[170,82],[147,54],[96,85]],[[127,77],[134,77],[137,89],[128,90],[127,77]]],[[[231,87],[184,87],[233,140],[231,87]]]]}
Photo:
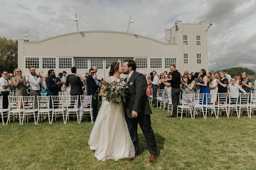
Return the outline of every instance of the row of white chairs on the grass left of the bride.
{"type": "MultiPolygon", "coordinates": [[[[3,113],[7,112],[7,122],[10,122],[10,117],[13,117],[13,121],[15,117],[19,117],[19,123],[23,124],[23,121],[27,121],[29,117],[34,117],[35,124],[38,124],[38,121],[41,116],[42,118],[46,118],[48,116],[49,124],[53,122],[53,118],[62,117],[64,124],[67,123],[69,120],[70,114],[75,114],[77,118],[77,122],[80,124],[83,116],[90,116],[91,122],[93,123],[93,116],[92,116],[92,106],[91,100],[92,96],[70,96],[70,95],[59,95],[59,96],[51,96],[51,102],[53,108],[49,108],[50,104],[50,97],[46,96],[45,94],[41,94],[41,96],[37,96],[38,108],[35,108],[35,98],[34,96],[8,96],[9,99],[9,108],[3,109],[2,107],[2,96],[0,97],[0,113],[2,115],[3,121],[3,113]],[[88,100],[86,105],[82,105],[84,100],[88,100]],[[22,100],[23,108],[20,107],[20,101],[22,100]],[[78,100],[80,100],[81,105],[83,107],[82,116],[79,115],[79,108],[78,108],[78,100]],[[88,115],[89,114],[89,115],[88,115]],[[21,115],[23,115],[21,121],[21,115]],[[37,116],[37,118],[36,118],[37,116]],[[50,118],[51,116],[51,118],[50,118]]],[[[4,121],[3,121],[4,125],[4,121]]]]}

